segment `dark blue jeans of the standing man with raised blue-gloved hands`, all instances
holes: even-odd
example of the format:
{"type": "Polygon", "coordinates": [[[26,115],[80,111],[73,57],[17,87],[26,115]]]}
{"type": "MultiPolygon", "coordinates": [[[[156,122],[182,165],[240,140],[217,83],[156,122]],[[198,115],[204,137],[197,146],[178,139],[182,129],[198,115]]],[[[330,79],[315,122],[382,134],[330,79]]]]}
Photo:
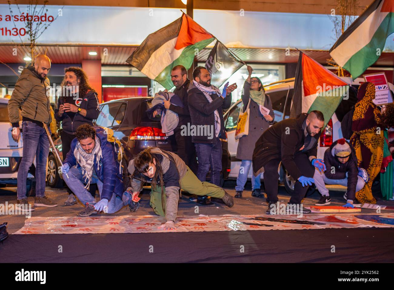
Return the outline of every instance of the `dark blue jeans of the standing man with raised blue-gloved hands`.
{"type": "Polygon", "coordinates": [[[214,144],[195,143],[194,146],[198,161],[197,178],[204,182],[209,167],[211,167],[210,183],[220,186],[221,157],[223,152],[220,139],[216,138],[216,143],[214,144]]]}

